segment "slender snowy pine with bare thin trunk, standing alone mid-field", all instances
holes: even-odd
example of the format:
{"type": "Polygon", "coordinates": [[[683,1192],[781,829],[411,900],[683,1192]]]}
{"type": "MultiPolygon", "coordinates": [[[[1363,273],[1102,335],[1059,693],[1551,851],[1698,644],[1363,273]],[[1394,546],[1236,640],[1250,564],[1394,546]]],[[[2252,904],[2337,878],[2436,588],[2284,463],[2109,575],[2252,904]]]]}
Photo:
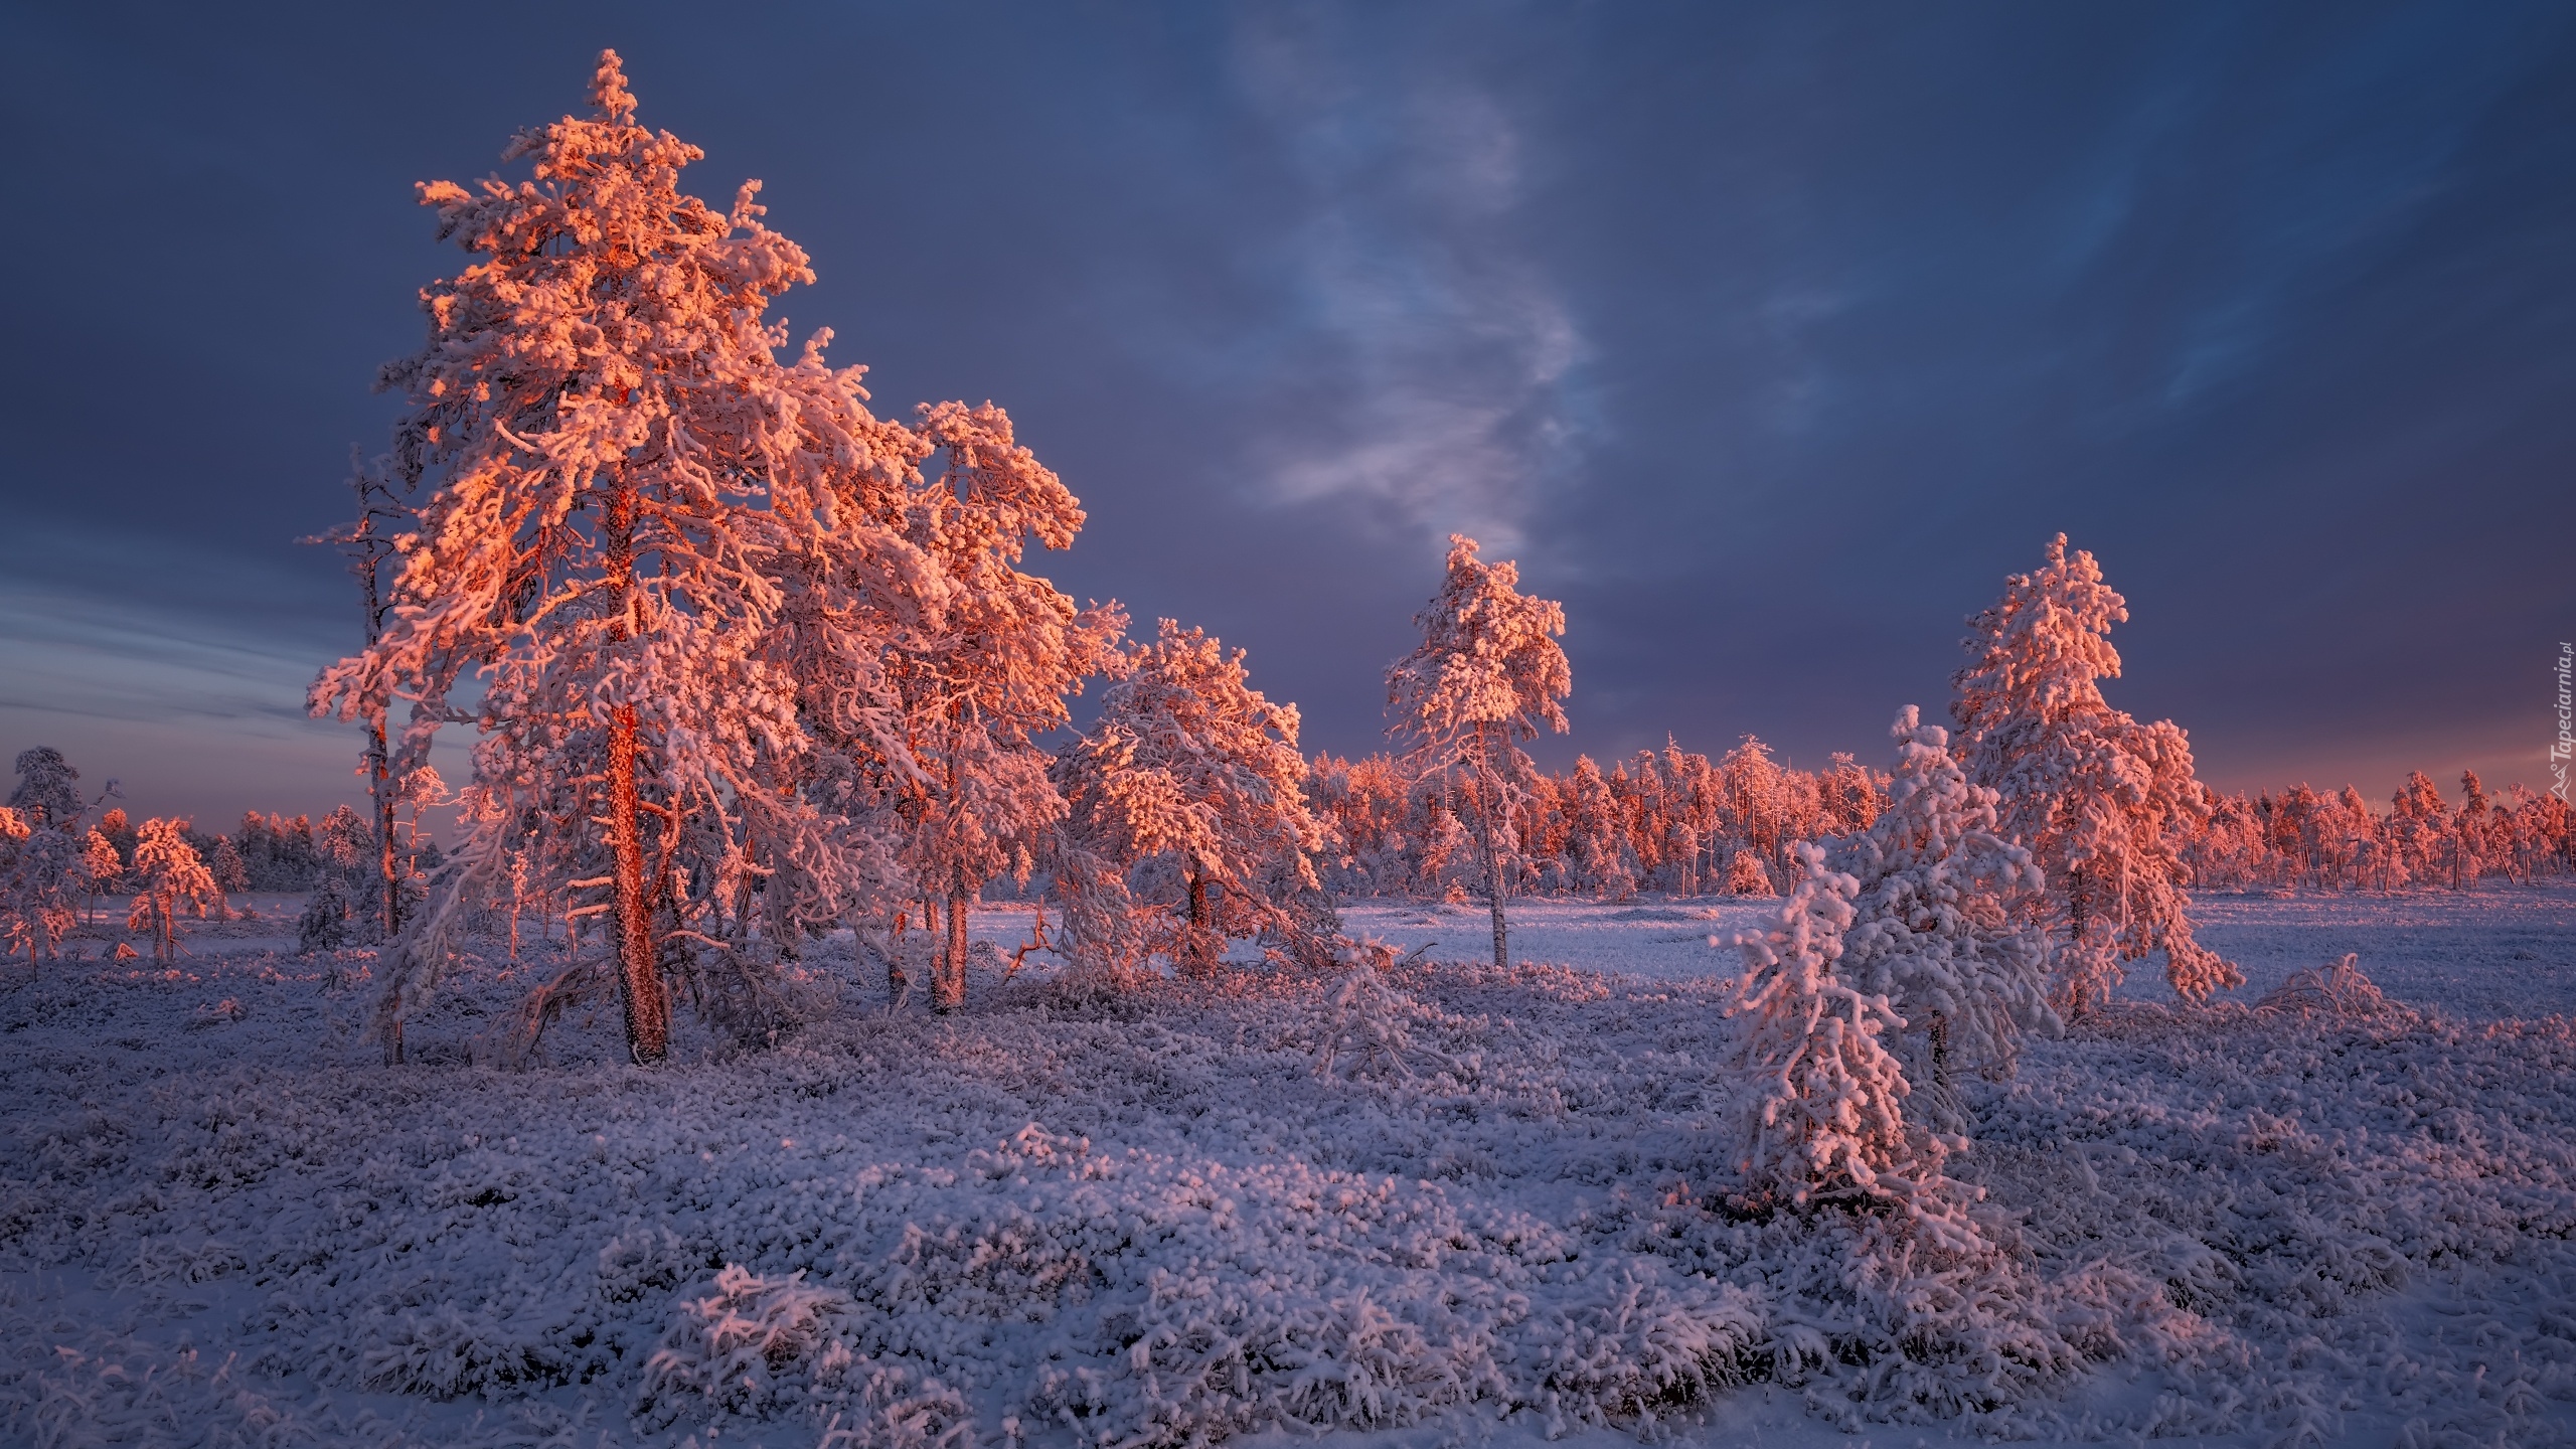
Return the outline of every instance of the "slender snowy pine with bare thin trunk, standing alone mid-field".
{"type": "Polygon", "coordinates": [[[1574,694],[1574,668],[1556,645],[1566,608],[1520,593],[1520,567],[1476,557],[1476,539],[1450,534],[1448,578],[1414,614],[1422,645],[1386,670],[1388,735],[1409,748],[1417,773],[1471,781],[1486,900],[1494,908],[1494,964],[1510,967],[1502,902],[1517,869],[1520,776],[1530,758],[1515,740],[1540,727],[1566,732],[1556,701],[1574,694]]]}

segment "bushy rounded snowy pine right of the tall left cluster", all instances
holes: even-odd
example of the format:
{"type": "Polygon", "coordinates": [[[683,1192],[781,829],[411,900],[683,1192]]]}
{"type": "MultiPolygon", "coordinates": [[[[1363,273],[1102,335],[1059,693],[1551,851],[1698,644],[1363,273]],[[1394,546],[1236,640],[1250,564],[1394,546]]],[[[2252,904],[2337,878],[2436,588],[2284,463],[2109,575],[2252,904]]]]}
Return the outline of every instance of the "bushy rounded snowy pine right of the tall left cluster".
{"type": "Polygon", "coordinates": [[[1069,910],[1072,951],[1115,959],[1131,951],[1087,933],[1133,920],[1136,949],[1208,972],[1226,941],[1273,936],[1296,944],[1298,897],[1319,887],[1311,856],[1324,833],[1306,810],[1306,758],[1293,704],[1249,686],[1244,652],[1206,629],[1159,621],[1108,688],[1100,719],[1056,755],[1069,804],[1059,890],[1108,900],[1069,910]],[[1170,856],[1182,877],[1180,913],[1126,900],[1128,869],[1170,856]]]}

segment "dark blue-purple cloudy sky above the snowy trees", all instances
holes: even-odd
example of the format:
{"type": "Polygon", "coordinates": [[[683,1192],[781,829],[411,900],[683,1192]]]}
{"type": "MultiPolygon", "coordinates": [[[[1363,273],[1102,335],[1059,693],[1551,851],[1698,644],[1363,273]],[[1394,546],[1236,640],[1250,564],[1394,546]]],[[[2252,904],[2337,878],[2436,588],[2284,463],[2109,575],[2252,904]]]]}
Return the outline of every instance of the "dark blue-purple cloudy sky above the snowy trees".
{"type": "Polygon", "coordinates": [[[1566,601],[1551,758],[1878,761],[2063,529],[2205,779],[2543,784],[2576,10],[2450,3],[10,3],[0,750],[355,792],[294,539],[461,263],[412,183],[600,46],[693,191],[768,183],[799,333],[1010,407],[1092,516],[1041,570],[1247,645],[1309,748],[1376,748],[1466,529],[1566,601]]]}

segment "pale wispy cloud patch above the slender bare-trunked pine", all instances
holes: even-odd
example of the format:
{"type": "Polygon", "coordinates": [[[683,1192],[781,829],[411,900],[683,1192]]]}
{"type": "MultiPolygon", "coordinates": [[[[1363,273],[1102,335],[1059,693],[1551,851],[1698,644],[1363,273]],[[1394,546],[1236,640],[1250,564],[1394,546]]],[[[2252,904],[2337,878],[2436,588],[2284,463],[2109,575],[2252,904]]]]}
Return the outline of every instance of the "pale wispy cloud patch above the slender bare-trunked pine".
{"type": "Polygon", "coordinates": [[[1285,250],[1298,322],[1340,371],[1329,407],[1255,443],[1257,487],[1517,547],[1579,446],[1566,392],[1584,353],[1515,245],[1520,131],[1466,77],[1381,75],[1314,13],[1249,21],[1234,59],[1311,188],[1285,250]]]}

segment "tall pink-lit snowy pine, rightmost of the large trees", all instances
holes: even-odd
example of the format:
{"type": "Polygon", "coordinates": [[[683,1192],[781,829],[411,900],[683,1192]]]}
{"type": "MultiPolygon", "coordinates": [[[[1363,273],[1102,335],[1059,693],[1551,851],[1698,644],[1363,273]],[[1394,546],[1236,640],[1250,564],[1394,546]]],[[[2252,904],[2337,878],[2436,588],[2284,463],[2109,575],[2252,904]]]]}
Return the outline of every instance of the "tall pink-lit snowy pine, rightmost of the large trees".
{"type": "Polygon", "coordinates": [[[2069,1013],[2102,1006],[2123,962],[2151,951],[2184,1000],[2244,985],[2233,962],[2192,941],[2179,848],[2210,810],[2192,745],[2172,719],[2138,724],[2112,709],[2097,683],[2120,678],[2110,627],[2125,619],[2094,557],[2069,554],[2058,534],[2045,567],[2007,578],[2004,598],[1968,619],[1973,663],[1950,681],[1968,779],[1996,792],[1996,833],[2045,874],[2035,913],[2069,1013]]]}

